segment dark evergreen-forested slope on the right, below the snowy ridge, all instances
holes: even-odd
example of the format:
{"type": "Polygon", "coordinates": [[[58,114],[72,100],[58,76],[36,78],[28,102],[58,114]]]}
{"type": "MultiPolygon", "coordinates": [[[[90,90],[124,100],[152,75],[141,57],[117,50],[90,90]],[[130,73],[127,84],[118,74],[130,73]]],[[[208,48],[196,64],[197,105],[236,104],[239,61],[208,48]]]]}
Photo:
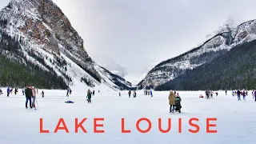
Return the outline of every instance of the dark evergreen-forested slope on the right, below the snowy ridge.
{"type": "Polygon", "coordinates": [[[254,90],[256,40],[235,46],[226,54],[156,87],[155,90],[254,90]]]}

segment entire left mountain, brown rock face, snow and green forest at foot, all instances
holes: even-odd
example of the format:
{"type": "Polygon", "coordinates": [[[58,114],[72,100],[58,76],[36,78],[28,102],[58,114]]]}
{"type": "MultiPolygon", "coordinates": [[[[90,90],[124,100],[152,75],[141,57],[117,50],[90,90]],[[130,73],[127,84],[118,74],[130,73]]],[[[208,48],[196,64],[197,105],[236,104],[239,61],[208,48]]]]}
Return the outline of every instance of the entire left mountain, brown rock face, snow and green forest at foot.
{"type": "Polygon", "coordinates": [[[90,58],[83,39],[51,0],[12,0],[0,11],[0,25],[1,86],[130,89],[130,82],[90,58]]]}

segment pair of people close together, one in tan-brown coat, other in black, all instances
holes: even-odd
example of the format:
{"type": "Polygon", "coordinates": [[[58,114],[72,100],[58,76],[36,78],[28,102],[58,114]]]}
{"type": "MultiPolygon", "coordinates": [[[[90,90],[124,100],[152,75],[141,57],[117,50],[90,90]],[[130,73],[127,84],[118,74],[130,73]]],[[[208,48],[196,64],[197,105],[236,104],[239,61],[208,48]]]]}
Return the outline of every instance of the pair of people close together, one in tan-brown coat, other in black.
{"type": "Polygon", "coordinates": [[[170,105],[170,113],[174,114],[174,111],[178,111],[179,113],[181,113],[181,105],[182,102],[182,98],[179,96],[179,94],[175,92],[173,90],[170,90],[170,94],[169,94],[169,105],[170,105]]]}

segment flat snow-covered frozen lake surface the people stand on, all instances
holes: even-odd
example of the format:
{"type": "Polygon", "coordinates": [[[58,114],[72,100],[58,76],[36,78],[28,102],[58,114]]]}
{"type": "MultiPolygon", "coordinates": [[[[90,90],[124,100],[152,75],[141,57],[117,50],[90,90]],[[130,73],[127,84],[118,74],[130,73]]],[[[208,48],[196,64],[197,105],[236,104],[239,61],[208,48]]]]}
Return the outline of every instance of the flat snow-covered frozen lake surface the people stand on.
{"type": "MultiPolygon", "coordinates": [[[[40,90],[41,91],[41,90],[40,90]]],[[[4,91],[5,92],[5,91],[4,91]]],[[[81,92],[81,91],[80,91],[81,92]]],[[[127,91],[101,91],[92,98],[92,103],[86,103],[85,94],[74,94],[66,97],[64,90],[45,90],[45,98],[38,96],[38,110],[26,110],[25,98],[21,94],[10,98],[0,95],[0,143],[1,144],[51,144],[51,143],[88,143],[88,144],[136,144],[136,143],[255,143],[256,116],[252,96],[246,102],[238,102],[230,92],[226,96],[219,92],[214,99],[198,98],[203,92],[179,92],[182,97],[182,114],[169,114],[169,92],[154,92],[154,98],[138,92],[137,98],[128,98],[127,91]],[[66,100],[74,104],[66,104],[66,100]],[[149,118],[152,129],[149,133],[140,134],[136,129],[138,118],[149,118]],[[50,134],[39,133],[39,118],[43,118],[43,129],[50,134]],[[64,130],[54,134],[59,118],[64,118],[70,134],[64,130]],[[87,134],[78,131],[74,133],[74,118],[88,118],[83,126],[87,134]],[[93,118],[105,118],[103,122],[105,134],[94,134],[93,118]],[[121,118],[126,118],[126,129],[131,134],[121,133],[121,118]],[[167,126],[167,118],[172,118],[170,133],[162,134],[158,130],[158,118],[163,118],[163,126],[167,126]],[[178,134],[178,118],[182,118],[182,134],[178,134]],[[195,122],[200,126],[198,134],[190,134],[189,118],[198,118],[195,122]],[[218,134],[206,134],[206,118],[218,118],[218,134]]],[[[101,122],[99,122],[101,123],[101,122]]],[[[146,129],[146,122],[141,128],[146,129]]],[[[102,128],[99,128],[99,130],[102,128]]]]}

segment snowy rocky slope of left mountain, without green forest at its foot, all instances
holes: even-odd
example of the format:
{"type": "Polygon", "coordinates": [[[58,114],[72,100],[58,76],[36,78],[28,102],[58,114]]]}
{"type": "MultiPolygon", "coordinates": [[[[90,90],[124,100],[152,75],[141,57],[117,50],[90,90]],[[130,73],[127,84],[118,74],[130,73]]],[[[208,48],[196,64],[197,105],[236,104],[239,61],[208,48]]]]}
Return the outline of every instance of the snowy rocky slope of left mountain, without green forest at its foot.
{"type": "MultiPolygon", "coordinates": [[[[0,47],[6,58],[25,64],[32,62],[42,72],[58,74],[67,86],[110,86],[126,90],[130,82],[110,73],[86,53],[83,39],[62,10],[51,0],[12,0],[0,12],[0,39],[7,35],[18,42],[18,53],[0,47]],[[14,55],[16,58],[10,57],[14,55]]],[[[2,39],[2,42],[6,42],[2,39]]],[[[8,42],[6,42],[6,46],[8,42]]]]}

